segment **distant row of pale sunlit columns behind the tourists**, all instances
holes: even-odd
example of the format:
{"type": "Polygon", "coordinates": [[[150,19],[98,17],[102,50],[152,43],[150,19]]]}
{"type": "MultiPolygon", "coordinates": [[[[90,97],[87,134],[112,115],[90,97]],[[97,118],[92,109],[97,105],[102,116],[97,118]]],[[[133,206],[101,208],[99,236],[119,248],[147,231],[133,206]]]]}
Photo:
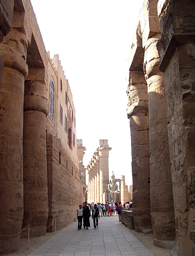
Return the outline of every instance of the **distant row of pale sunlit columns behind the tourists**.
{"type": "Polygon", "coordinates": [[[100,145],[87,165],[88,202],[103,202],[109,183],[108,157],[111,148],[100,145]]]}

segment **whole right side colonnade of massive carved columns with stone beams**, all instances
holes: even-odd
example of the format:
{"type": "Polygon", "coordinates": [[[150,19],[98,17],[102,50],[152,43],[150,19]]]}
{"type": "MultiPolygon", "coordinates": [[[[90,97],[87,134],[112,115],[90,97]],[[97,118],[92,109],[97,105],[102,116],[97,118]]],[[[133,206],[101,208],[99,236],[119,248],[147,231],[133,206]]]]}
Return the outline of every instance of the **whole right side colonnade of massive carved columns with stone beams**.
{"type": "Polygon", "coordinates": [[[194,1],[144,0],[126,59],[135,230],[179,256],[195,255],[194,38],[194,1]]]}

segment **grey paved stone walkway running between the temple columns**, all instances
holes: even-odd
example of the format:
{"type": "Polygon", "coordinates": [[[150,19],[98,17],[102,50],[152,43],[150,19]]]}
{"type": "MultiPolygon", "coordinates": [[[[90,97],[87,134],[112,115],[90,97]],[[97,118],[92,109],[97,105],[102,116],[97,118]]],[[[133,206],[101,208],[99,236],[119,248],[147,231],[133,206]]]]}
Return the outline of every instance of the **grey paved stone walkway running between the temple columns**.
{"type": "Polygon", "coordinates": [[[117,216],[100,217],[97,229],[90,224],[78,230],[73,222],[28,256],[154,256],[117,216]]]}

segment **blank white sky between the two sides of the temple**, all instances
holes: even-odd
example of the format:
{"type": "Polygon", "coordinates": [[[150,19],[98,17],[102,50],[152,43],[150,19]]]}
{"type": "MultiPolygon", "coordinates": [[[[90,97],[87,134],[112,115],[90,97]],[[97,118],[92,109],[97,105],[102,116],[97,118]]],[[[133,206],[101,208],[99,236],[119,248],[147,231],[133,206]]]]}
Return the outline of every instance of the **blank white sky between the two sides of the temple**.
{"type": "Polygon", "coordinates": [[[143,0],[31,0],[50,57],[58,54],[73,94],[76,137],[89,163],[108,139],[109,175],[132,184],[125,60],[143,0]]]}

